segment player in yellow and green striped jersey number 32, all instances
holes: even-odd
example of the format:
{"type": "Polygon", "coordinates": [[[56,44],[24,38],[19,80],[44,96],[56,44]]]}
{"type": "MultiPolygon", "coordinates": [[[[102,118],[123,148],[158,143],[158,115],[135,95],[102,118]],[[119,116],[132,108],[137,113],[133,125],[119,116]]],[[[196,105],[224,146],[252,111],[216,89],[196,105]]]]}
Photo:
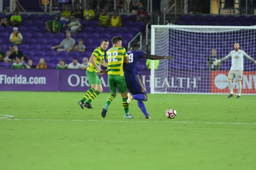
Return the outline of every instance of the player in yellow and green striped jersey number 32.
{"type": "Polygon", "coordinates": [[[123,72],[123,63],[128,64],[129,59],[125,48],[122,47],[122,37],[112,38],[113,47],[106,52],[108,59],[108,85],[111,95],[108,96],[107,102],[102,109],[102,117],[104,118],[108,111],[108,106],[116,97],[116,88],[122,95],[122,105],[125,109],[125,118],[134,119],[129,113],[129,104],[127,103],[127,85],[123,72]]]}

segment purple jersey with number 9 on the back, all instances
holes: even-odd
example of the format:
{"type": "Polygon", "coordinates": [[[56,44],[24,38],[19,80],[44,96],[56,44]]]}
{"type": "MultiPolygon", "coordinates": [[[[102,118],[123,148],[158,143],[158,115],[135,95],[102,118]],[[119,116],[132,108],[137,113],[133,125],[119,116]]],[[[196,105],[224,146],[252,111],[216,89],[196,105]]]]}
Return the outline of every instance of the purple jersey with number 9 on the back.
{"type": "Polygon", "coordinates": [[[125,74],[140,74],[139,61],[145,55],[143,51],[128,51],[129,64],[124,64],[123,69],[125,74]]]}

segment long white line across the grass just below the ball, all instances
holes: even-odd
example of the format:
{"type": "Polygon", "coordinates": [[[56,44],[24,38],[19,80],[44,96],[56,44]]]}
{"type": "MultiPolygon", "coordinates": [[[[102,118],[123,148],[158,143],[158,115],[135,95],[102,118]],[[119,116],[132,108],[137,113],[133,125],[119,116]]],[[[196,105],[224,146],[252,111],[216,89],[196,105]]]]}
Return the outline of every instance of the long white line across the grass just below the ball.
{"type": "Polygon", "coordinates": [[[223,124],[223,125],[256,125],[256,123],[242,122],[160,122],[160,121],[125,121],[125,120],[61,120],[61,119],[3,119],[3,120],[19,120],[19,121],[73,121],[73,122],[128,122],[128,123],[181,123],[181,124],[223,124]]]}

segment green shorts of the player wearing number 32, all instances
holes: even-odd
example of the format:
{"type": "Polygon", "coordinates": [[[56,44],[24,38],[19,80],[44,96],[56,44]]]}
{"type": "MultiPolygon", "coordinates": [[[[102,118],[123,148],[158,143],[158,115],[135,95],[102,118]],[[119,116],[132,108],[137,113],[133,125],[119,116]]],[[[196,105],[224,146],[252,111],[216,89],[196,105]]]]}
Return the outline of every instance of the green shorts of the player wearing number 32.
{"type": "Polygon", "coordinates": [[[119,93],[127,92],[127,85],[124,76],[108,75],[108,85],[111,94],[116,93],[116,88],[118,88],[119,93]]]}

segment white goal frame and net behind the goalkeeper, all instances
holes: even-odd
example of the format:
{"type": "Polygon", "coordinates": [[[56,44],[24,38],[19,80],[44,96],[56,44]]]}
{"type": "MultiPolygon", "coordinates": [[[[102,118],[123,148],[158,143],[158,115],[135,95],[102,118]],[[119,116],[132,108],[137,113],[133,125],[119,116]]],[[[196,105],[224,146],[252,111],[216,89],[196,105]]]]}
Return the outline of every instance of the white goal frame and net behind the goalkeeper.
{"type": "MultiPolygon", "coordinates": [[[[228,72],[231,59],[213,65],[234,50],[256,59],[256,27],[254,26],[151,26],[151,54],[172,56],[151,62],[150,91],[154,93],[229,94],[228,72]]],[[[256,94],[256,65],[244,59],[242,94],[256,94]]],[[[233,91],[238,83],[233,79],[233,91]]]]}

